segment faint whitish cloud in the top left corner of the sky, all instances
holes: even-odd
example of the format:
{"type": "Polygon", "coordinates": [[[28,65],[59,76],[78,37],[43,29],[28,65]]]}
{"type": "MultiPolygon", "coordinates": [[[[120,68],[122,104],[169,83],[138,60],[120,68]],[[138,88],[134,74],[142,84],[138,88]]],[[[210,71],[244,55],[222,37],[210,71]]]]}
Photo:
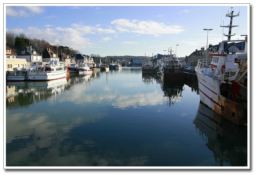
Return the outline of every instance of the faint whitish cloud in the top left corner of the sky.
{"type": "Polygon", "coordinates": [[[6,15],[12,17],[28,17],[43,12],[43,7],[39,6],[6,6],[6,15]]]}

